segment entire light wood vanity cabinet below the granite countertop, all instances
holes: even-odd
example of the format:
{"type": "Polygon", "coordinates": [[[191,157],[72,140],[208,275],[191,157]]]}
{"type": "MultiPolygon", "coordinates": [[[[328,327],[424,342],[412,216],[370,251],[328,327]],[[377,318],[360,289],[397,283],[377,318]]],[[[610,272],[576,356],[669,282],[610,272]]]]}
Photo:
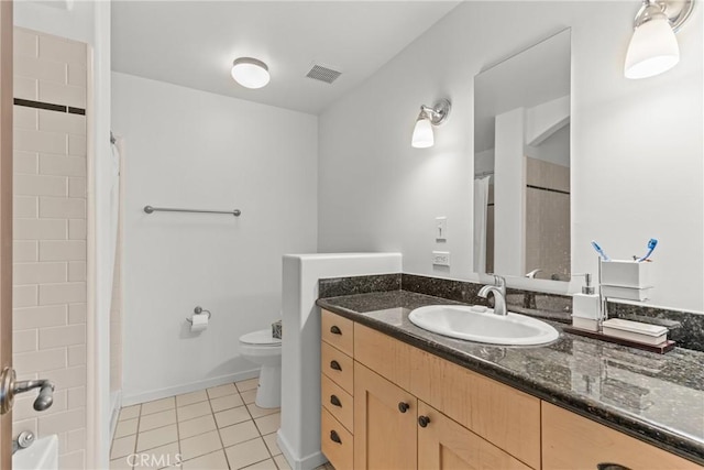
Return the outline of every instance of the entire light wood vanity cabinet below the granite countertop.
{"type": "Polygon", "coordinates": [[[337,470],[702,469],[330,311],[322,328],[321,448],[337,470]]]}

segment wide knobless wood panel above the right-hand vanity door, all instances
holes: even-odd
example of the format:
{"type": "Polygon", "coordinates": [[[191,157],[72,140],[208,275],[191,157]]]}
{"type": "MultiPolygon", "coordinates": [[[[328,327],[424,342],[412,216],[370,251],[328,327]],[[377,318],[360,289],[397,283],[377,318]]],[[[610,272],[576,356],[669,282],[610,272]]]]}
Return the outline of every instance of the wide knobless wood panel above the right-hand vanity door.
{"type": "Polygon", "coordinates": [[[540,468],[540,400],[417,348],[410,361],[410,393],[540,468]]]}

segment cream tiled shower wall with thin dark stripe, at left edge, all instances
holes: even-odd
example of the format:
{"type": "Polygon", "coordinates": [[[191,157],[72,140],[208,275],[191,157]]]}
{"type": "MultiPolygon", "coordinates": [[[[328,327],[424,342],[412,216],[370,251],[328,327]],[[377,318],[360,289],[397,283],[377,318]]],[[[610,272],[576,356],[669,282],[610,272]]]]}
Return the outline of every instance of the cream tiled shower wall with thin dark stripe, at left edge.
{"type": "MultiPolygon", "coordinates": [[[[85,108],[86,44],[15,28],[15,97],[85,108]],[[26,84],[32,84],[31,87],[26,84]],[[33,88],[38,94],[28,94],[33,88]],[[51,90],[48,95],[41,90],[51,90]]],[[[58,434],[59,467],[86,460],[86,117],[14,107],[14,367],[56,383],[54,405],[14,405],[13,435],[58,434]],[[72,144],[73,143],[73,144],[72,144]],[[72,190],[73,187],[73,190],[72,190]]]]}

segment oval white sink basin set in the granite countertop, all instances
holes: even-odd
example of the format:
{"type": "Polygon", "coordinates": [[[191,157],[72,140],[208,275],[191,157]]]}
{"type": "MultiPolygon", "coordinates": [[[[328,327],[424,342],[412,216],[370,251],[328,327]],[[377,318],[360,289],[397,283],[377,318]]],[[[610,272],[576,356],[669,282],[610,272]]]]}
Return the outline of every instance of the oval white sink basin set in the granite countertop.
{"type": "Polygon", "coordinates": [[[442,336],[492,345],[544,345],[560,336],[544,321],[512,313],[499,316],[479,305],[429,305],[413,310],[408,319],[442,336]]]}

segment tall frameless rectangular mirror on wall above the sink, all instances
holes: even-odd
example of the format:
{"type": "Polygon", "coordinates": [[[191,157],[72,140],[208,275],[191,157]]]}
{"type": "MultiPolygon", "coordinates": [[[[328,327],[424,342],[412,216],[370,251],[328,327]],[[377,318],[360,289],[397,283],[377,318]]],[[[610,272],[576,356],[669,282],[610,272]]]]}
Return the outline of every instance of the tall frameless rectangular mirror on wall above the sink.
{"type": "Polygon", "coordinates": [[[570,278],[570,30],[474,78],[474,271],[570,278]]]}

